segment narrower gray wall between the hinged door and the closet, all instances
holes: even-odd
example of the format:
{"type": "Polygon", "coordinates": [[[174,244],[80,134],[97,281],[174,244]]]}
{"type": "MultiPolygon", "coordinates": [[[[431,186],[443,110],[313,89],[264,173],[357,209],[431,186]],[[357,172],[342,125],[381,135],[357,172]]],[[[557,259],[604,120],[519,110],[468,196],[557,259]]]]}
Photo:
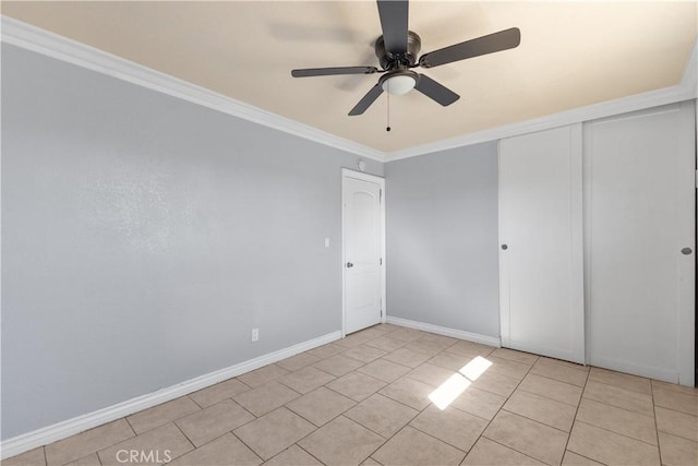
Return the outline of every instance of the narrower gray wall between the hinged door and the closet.
{"type": "Polygon", "coordinates": [[[387,314],[500,336],[496,142],[386,164],[387,314]]]}

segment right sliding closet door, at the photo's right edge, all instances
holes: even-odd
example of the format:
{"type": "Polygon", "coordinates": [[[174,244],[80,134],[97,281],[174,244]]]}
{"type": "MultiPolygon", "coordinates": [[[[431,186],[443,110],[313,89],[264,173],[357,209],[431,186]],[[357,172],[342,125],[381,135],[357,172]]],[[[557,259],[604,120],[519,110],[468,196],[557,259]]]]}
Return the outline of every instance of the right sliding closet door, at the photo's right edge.
{"type": "Polygon", "coordinates": [[[585,126],[590,362],[693,385],[693,103],[585,126]]]}

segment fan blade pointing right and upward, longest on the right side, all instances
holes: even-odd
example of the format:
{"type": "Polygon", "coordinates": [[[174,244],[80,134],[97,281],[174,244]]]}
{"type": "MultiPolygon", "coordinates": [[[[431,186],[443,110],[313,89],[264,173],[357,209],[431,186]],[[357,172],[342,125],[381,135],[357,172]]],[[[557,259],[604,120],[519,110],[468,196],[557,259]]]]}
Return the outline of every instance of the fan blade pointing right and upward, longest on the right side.
{"type": "Polygon", "coordinates": [[[518,27],[512,27],[510,29],[500,31],[498,33],[424,53],[419,59],[419,64],[424,68],[438,67],[453,61],[515,48],[520,43],[521,32],[518,27]]]}

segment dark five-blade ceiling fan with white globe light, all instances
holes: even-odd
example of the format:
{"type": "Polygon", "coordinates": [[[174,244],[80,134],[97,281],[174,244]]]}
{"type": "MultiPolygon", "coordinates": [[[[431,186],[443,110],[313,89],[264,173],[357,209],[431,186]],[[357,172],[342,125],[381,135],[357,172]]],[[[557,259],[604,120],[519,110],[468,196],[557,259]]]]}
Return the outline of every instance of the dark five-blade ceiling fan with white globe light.
{"type": "Polygon", "coordinates": [[[421,39],[419,35],[407,28],[408,0],[377,0],[377,3],[383,35],[375,43],[375,55],[378,57],[381,69],[376,67],[339,67],[291,71],[293,77],[385,73],[377,84],[351,109],[350,117],[366,111],[384,91],[393,95],[401,95],[416,88],[444,107],[450,105],[460,98],[458,94],[431,77],[412,71],[412,68],[433,68],[507,50],[517,47],[521,41],[521,32],[517,27],[512,27],[424,53],[418,60],[421,39]]]}

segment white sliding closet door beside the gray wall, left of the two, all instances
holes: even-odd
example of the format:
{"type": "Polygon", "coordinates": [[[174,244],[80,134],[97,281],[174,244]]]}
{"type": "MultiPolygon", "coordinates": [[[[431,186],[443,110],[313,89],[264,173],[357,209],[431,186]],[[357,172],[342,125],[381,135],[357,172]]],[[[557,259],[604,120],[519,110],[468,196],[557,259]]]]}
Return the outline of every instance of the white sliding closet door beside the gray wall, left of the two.
{"type": "Polygon", "coordinates": [[[581,126],[500,145],[502,345],[583,363],[581,126]]]}

